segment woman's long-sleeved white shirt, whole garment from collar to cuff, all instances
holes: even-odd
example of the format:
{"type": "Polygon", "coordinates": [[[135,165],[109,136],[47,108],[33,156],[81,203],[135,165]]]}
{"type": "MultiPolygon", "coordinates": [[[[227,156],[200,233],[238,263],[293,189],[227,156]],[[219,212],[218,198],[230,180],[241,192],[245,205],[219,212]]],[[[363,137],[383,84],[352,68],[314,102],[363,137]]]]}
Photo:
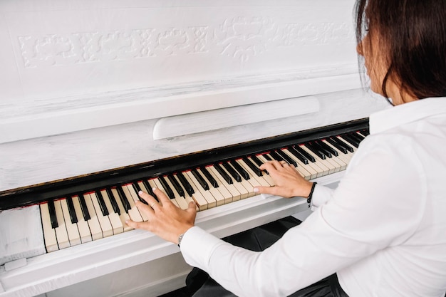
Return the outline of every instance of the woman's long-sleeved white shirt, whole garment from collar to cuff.
{"type": "Polygon", "coordinates": [[[182,239],[191,266],[237,296],[288,296],[337,273],[350,297],[446,291],[446,98],[370,116],[335,190],[316,186],[316,210],[262,252],[197,226],[182,239]]]}

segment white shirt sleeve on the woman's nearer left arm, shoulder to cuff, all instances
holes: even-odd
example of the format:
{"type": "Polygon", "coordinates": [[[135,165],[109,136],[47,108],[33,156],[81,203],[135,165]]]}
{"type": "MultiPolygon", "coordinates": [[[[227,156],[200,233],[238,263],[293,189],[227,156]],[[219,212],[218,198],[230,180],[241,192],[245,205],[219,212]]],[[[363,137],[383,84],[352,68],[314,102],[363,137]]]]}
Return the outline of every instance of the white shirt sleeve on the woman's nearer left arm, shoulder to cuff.
{"type": "Polygon", "coordinates": [[[419,168],[400,151],[364,151],[334,192],[315,193],[332,198],[269,249],[241,249],[193,227],[182,239],[185,260],[237,296],[289,296],[405,241],[425,203],[419,168]]]}

